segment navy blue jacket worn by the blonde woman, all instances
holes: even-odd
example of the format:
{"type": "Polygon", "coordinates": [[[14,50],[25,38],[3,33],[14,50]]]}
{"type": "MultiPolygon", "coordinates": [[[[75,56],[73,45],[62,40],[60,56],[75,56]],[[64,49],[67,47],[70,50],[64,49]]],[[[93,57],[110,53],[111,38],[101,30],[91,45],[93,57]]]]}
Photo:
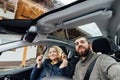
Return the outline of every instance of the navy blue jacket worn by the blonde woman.
{"type": "Polygon", "coordinates": [[[52,65],[51,60],[47,59],[43,62],[41,68],[37,68],[37,65],[32,70],[30,80],[41,80],[46,76],[66,76],[69,77],[70,68],[59,68],[62,62],[52,65]]]}

